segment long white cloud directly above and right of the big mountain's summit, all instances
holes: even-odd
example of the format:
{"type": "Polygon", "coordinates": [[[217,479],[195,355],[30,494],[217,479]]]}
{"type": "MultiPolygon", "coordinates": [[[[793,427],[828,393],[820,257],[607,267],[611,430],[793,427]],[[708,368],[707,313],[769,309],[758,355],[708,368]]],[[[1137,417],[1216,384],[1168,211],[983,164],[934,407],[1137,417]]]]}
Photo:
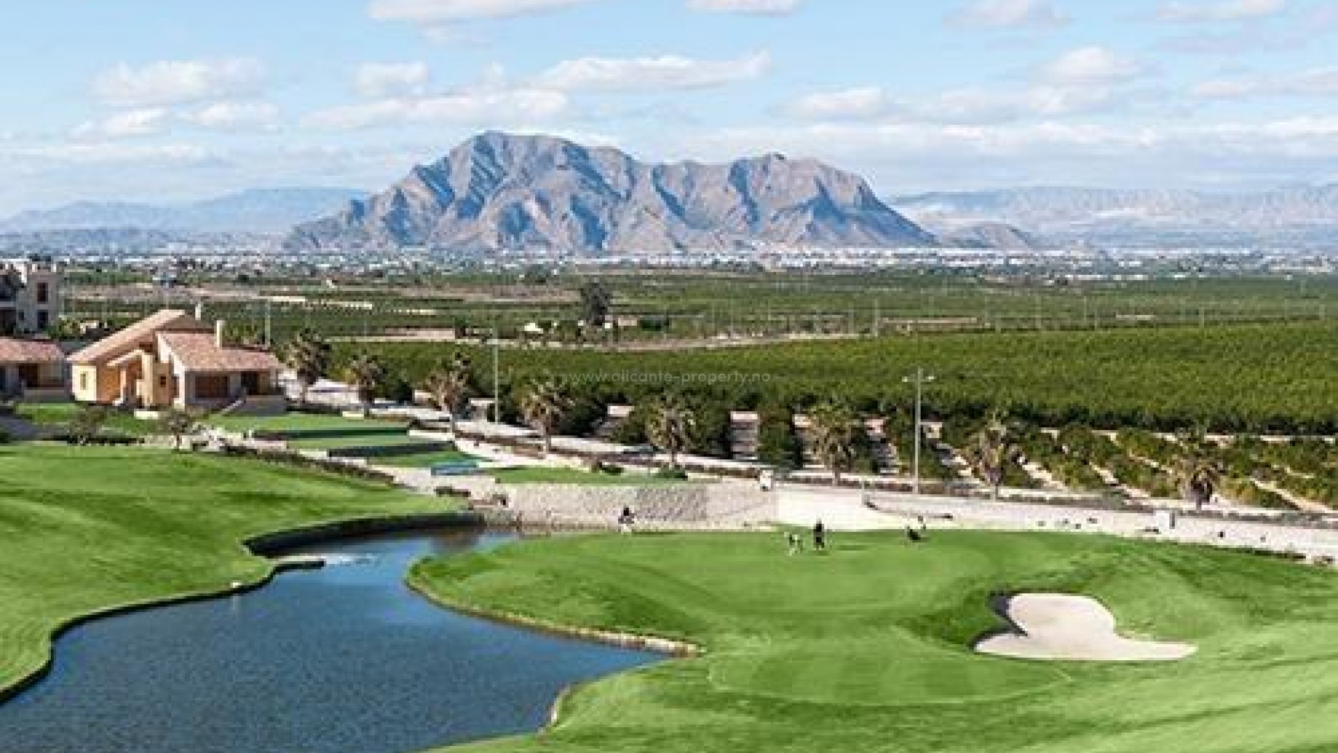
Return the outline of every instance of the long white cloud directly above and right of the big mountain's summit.
{"type": "Polygon", "coordinates": [[[757,52],[737,60],[660,58],[582,58],[565,60],[535,79],[539,88],[557,91],[636,92],[668,88],[712,88],[756,79],[771,70],[771,55],[757,52]]]}

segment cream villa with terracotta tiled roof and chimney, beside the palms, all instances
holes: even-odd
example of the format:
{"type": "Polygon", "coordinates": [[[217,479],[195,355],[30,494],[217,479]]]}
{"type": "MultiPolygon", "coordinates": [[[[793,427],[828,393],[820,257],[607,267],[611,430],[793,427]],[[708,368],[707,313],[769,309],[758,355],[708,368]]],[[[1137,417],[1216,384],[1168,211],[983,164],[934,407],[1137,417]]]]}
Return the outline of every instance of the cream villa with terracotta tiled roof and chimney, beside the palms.
{"type": "Polygon", "coordinates": [[[132,410],[284,413],[282,363],[229,344],[222,322],[165,310],[70,356],[74,397],[132,410]]]}

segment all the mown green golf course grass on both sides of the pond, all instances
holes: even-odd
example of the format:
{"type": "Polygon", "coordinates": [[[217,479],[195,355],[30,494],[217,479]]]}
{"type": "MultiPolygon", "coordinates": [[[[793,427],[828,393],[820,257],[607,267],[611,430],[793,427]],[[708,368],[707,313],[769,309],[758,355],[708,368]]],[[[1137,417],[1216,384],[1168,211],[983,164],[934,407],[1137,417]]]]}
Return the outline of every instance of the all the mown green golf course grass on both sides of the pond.
{"type": "MultiPolygon", "coordinates": [[[[242,547],[254,536],[444,509],[166,450],[8,446],[0,473],[0,690],[37,673],[80,618],[264,581],[273,563],[242,547]]],[[[407,577],[464,612],[701,650],[571,689],[538,734],[460,750],[1338,749],[1338,573],[1280,557],[1065,533],[838,535],[797,555],[779,532],[591,535],[432,556],[407,577]],[[1112,663],[977,653],[1008,628],[1001,594],[1085,596],[1121,639],[1192,651],[1112,663]]]]}

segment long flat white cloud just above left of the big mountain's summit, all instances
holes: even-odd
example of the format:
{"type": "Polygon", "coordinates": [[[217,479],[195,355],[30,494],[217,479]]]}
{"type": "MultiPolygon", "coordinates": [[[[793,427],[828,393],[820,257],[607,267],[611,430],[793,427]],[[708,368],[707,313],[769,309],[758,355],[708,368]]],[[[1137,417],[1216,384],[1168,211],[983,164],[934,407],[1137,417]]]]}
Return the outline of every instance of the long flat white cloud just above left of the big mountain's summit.
{"type": "Polygon", "coordinates": [[[561,92],[516,88],[381,99],[321,110],[304,122],[312,127],[340,130],[434,123],[495,127],[498,123],[547,121],[565,113],[567,106],[567,98],[561,92]]]}

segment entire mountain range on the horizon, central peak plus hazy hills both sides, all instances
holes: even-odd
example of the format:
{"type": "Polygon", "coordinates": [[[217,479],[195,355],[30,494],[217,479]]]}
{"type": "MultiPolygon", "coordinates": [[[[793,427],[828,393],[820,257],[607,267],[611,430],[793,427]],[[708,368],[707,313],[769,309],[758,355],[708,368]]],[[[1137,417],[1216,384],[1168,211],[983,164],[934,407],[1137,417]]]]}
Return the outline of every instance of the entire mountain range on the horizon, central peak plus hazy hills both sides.
{"type": "Polygon", "coordinates": [[[294,252],[656,255],[823,247],[1029,251],[1331,249],[1338,184],[1275,190],[1016,188],[879,198],[780,154],[649,163],[607,147],[484,133],[381,193],[258,189],[177,205],[79,202],[0,220],[13,248],[257,234],[294,252]],[[119,230],[119,233],[112,233],[119,230]],[[139,233],[139,234],[135,234],[139,233]]]}

